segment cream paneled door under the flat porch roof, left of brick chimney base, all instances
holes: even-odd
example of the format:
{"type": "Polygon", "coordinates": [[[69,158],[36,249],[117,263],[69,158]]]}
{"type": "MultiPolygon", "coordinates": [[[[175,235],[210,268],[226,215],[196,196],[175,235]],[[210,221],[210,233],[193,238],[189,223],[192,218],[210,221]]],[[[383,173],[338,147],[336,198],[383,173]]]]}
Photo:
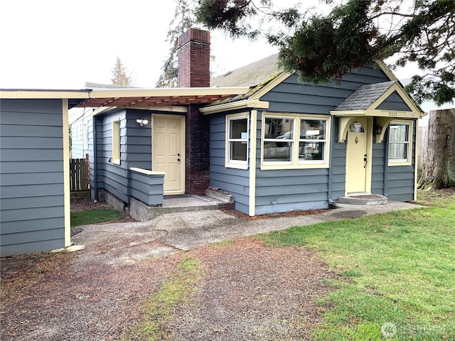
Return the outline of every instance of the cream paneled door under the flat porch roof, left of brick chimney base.
{"type": "Polygon", "coordinates": [[[152,115],[152,170],[164,172],[164,195],[185,193],[185,117],[152,115]]]}

